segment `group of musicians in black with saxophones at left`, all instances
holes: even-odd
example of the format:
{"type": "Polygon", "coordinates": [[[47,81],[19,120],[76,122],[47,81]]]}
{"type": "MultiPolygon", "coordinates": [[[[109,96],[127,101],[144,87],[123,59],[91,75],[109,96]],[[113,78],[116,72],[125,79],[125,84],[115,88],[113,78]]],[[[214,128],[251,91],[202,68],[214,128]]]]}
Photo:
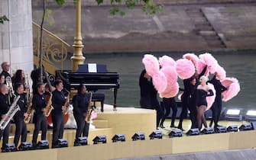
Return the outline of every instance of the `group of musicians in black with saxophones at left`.
{"type": "MultiPolygon", "coordinates": [[[[8,73],[10,69],[8,62],[2,63],[2,73],[0,75],[0,120],[6,117],[8,113],[9,107],[11,106],[11,102],[8,101],[8,97],[10,96],[10,88],[6,85],[5,79],[6,77],[11,77],[8,73]]],[[[44,70],[43,70],[44,71],[44,70]]],[[[48,105],[52,105],[53,110],[51,111],[51,117],[53,121],[53,140],[52,140],[52,148],[60,147],[58,146],[58,139],[63,139],[63,130],[64,130],[64,114],[67,110],[66,106],[66,97],[63,92],[63,82],[60,79],[57,79],[54,82],[54,85],[51,86],[47,84],[50,91],[45,91],[45,84],[39,81],[39,74],[41,73],[41,69],[35,69],[31,72],[31,79],[33,80],[33,98],[32,101],[28,101],[28,92],[29,86],[25,82],[25,74],[24,71],[18,69],[15,72],[15,75],[12,79],[12,86],[15,90],[15,95],[11,95],[12,97],[20,95],[18,100],[18,106],[20,110],[13,117],[15,123],[15,139],[14,143],[16,148],[18,148],[18,142],[21,137],[21,142],[26,142],[27,140],[27,125],[24,122],[28,115],[28,106],[31,105],[34,110],[33,114],[33,123],[34,123],[34,133],[32,139],[32,146],[37,146],[37,136],[39,131],[41,130],[41,140],[45,140],[47,138],[47,107],[48,105]],[[50,94],[52,97],[50,98],[50,94]],[[47,99],[49,101],[47,101],[47,99]]],[[[47,75],[44,73],[44,76],[47,75]]],[[[80,136],[88,136],[89,133],[89,123],[86,122],[86,114],[89,105],[89,94],[86,93],[86,86],[79,85],[77,94],[73,97],[73,114],[76,120],[77,129],[76,129],[76,139],[74,142],[74,146],[79,146],[78,138],[80,136]]],[[[68,103],[70,104],[70,103],[68,103]]],[[[0,130],[0,139],[2,139],[2,152],[5,152],[6,144],[8,143],[9,136],[9,128],[10,123],[5,127],[5,130],[0,130]]]]}

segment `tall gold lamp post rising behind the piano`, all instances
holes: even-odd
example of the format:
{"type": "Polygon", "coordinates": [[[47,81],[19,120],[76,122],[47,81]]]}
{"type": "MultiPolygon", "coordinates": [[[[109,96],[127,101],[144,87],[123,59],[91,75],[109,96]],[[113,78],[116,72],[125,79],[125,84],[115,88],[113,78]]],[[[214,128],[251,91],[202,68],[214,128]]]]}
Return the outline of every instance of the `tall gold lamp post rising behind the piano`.
{"type": "Polygon", "coordinates": [[[74,38],[74,53],[71,57],[72,71],[76,72],[79,64],[83,64],[85,57],[83,56],[83,41],[81,36],[81,0],[76,0],[76,36],[74,38]]]}

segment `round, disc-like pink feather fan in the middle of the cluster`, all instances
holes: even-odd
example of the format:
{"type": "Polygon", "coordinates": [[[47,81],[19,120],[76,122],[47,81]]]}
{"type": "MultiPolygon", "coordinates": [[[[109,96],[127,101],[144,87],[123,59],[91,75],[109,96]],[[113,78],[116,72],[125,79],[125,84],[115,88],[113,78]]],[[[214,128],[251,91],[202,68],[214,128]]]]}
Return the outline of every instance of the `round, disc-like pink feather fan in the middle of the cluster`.
{"type": "Polygon", "coordinates": [[[176,62],[176,71],[181,79],[190,78],[195,73],[195,66],[188,59],[178,59],[176,62]]]}

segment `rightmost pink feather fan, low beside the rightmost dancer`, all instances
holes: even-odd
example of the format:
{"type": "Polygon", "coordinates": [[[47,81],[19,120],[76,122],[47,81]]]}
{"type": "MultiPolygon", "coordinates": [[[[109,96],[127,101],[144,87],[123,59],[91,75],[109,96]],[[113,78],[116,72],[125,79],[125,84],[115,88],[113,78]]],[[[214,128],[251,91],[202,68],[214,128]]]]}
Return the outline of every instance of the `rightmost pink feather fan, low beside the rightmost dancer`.
{"type": "Polygon", "coordinates": [[[221,81],[222,85],[225,88],[228,88],[227,91],[222,92],[222,101],[229,101],[234,98],[240,91],[240,85],[237,78],[225,78],[221,81]]]}

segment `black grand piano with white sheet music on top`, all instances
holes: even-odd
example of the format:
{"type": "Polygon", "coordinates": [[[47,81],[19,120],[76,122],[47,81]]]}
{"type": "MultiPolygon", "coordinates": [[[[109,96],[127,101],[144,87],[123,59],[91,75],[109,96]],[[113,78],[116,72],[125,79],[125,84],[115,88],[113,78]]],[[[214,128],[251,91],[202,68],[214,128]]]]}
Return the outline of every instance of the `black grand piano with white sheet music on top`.
{"type": "MultiPolygon", "coordinates": [[[[56,75],[57,78],[63,80],[64,88],[68,90],[77,89],[80,84],[86,85],[88,91],[94,92],[100,89],[113,89],[113,106],[114,110],[116,110],[116,95],[120,87],[119,74],[117,72],[108,72],[105,65],[83,64],[78,66],[77,72],[57,71],[56,75]]],[[[103,106],[101,111],[103,112],[103,106]]]]}

